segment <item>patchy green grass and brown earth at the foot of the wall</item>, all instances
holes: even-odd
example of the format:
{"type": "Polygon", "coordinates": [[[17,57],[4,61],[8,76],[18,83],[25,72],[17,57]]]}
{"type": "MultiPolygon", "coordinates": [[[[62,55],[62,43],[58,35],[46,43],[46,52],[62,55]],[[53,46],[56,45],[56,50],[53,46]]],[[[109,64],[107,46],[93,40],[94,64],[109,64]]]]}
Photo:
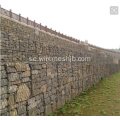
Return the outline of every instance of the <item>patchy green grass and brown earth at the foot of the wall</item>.
{"type": "Polygon", "coordinates": [[[86,89],[51,116],[120,116],[120,72],[86,89]]]}

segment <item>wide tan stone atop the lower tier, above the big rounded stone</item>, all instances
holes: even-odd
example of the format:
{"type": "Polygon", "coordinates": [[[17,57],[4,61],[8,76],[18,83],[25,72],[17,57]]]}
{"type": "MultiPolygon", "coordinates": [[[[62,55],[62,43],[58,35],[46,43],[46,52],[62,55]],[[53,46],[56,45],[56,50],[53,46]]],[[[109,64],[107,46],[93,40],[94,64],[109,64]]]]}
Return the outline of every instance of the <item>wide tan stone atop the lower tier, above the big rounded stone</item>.
{"type": "Polygon", "coordinates": [[[17,71],[22,71],[22,72],[30,70],[29,64],[25,64],[25,63],[16,63],[15,68],[17,71]]]}

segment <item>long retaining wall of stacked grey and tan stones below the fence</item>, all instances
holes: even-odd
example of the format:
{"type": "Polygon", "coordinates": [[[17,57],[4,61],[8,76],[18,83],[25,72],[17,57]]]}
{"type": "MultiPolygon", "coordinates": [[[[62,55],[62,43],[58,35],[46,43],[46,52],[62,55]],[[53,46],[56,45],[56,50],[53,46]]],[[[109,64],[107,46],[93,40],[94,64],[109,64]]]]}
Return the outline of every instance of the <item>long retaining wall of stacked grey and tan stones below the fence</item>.
{"type": "Polygon", "coordinates": [[[120,71],[113,57],[1,18],[1,115],[49,115],[86,88],[120,71]],[[90,62],[29,57],[91,57],[90,62]]]}

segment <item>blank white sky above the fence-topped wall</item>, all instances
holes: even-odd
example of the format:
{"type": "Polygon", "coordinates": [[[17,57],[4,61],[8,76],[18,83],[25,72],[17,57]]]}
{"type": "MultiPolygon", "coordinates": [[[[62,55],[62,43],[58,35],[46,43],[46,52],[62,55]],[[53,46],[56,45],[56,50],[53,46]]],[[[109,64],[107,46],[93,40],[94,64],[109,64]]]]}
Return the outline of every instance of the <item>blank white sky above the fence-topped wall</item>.
{"type": "Polygon", "coordinates": [[[0,5],[80,41],[120,47],[120,0],[0,0],[0,5]],[[118,6],[118,15],[110,14],[110,6],[118,6]]]}

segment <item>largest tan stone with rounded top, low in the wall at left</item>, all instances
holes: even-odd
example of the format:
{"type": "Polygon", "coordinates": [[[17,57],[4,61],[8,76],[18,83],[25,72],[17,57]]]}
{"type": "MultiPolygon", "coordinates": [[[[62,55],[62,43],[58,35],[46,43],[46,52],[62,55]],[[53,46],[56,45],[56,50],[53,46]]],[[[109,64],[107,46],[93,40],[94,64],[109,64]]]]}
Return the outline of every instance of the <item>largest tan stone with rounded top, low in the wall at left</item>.
{"type": "Polygon", "coordinates": [[[30,97],[30,90],[26,84],[20,85],[17,91],[17,102],[28,100],[30,97]]]}

